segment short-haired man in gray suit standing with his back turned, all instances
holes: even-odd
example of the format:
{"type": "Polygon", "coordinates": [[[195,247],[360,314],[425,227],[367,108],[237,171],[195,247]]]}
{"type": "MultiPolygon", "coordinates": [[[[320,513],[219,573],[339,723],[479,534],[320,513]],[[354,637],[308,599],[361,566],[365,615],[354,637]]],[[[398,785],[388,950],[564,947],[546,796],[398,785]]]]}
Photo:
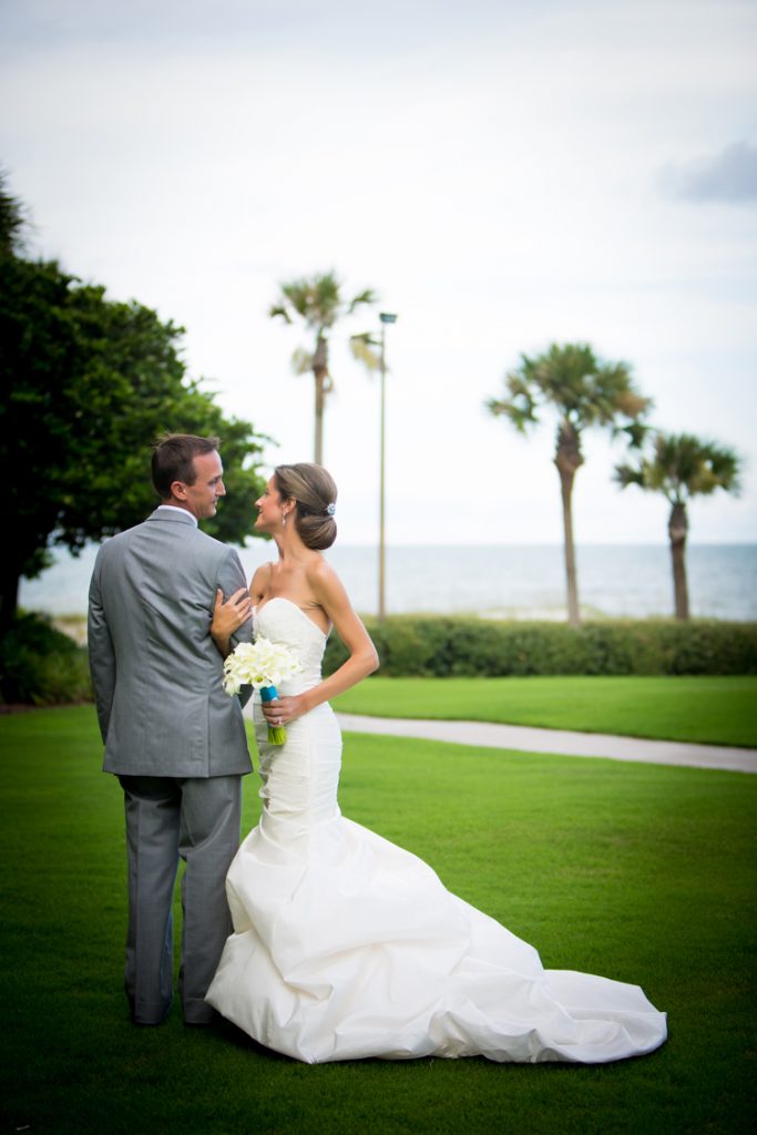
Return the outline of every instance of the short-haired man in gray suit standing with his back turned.
{"type": "MultiPolygon", "coordinates": [[[[252,764],[242,707],[224,692],[209,634],[217,589],[245,588],[236,552],[197,528],[226,494],[218,445],[185,434],[158,443],[152,482],[162,504],[102,545],[90,586],[103,768],[118,776],[126,806],[125,986],[140,1025],[159,1025],[171,1004],[179,857],[187,1025],[215,1016],[204,994],[232,931],[224,883],[239,842],[241,776],[252,764]]],[[[246,595],[238,602],[249,612],[246,595]]],[[[251,636],[247,620],[235,639],[251,636]]]]}

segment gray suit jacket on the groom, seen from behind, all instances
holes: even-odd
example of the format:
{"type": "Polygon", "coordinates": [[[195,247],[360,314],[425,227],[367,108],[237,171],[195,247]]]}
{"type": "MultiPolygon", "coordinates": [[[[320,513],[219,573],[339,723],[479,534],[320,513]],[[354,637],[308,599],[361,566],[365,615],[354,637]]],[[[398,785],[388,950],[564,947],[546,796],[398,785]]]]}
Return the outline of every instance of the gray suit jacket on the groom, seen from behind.
{"type": "MultiPolygon", "coordinates": [[[[233,548],[157,510],[107,540],[90,586],[89,647],[106,772],[226,776],[252,768],[242,706],[209,634],[216,588],[245,587],[233,548]]],[[[252,637],[252,620],[236,640],[252,637]]]]}

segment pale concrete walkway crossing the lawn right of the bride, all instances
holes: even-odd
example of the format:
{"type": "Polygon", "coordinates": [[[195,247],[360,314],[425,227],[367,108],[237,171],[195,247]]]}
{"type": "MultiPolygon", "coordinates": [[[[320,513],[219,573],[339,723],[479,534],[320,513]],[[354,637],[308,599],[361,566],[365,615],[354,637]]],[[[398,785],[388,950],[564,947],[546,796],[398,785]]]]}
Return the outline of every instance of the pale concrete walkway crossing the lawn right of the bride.
{"type": "Polygon", "coordinates": [[[420,737],[494,749],[553,753],[572,757],[609,757],[653,765],[683,765],[757,773],[757,749],[732,749],[722,745],[689,745],[682,741],[646,741],[607,733],[569,733],[560,729],[529,729],[495,725],[481,721],[413,721],[401,717],[363,717],[338,713],[342,729],[353,733],[420,737]]]}

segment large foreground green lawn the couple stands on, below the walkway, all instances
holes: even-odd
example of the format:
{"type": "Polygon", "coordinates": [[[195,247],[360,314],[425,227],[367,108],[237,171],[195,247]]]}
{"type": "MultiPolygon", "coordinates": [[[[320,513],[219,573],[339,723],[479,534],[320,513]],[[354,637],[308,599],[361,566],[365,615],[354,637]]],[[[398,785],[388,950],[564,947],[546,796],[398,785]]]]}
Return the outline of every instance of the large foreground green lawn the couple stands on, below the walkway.
{"type": "MultiPolygon", "coordinates": [[[[0,717],[2,1130],[735,1135],[751,1129],[757,777],[347,735],[346,815],[428,859],[548,967],[644,985],[671,1039],[616,1065],[308,1067],[128,1023],[125,850],[90,707],[0,717]]],[[[254,823],[255,777],[244,825],[254,823]]]]}

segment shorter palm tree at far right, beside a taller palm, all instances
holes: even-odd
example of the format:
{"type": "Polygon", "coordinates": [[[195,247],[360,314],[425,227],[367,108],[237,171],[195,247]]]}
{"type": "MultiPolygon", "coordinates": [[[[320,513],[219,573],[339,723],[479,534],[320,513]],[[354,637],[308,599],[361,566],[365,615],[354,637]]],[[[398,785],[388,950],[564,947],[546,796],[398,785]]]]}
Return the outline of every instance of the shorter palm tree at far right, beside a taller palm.
{"type": "Polygon", "coordinates": [[[689,531],[687,505],[693,496],[709,496],[716,489],[739,491],[740,460],[724,445],[704,442],[691,434],[662,434],[655,437],[650,456],[640,456],[636,465],[617,465],[615,479],[622,488],[638,485],[662,493],[671,505],[667,535],[673,563],[675,617],[689,617],[689,587],[685,574],[685,540],[689,531]]]}

